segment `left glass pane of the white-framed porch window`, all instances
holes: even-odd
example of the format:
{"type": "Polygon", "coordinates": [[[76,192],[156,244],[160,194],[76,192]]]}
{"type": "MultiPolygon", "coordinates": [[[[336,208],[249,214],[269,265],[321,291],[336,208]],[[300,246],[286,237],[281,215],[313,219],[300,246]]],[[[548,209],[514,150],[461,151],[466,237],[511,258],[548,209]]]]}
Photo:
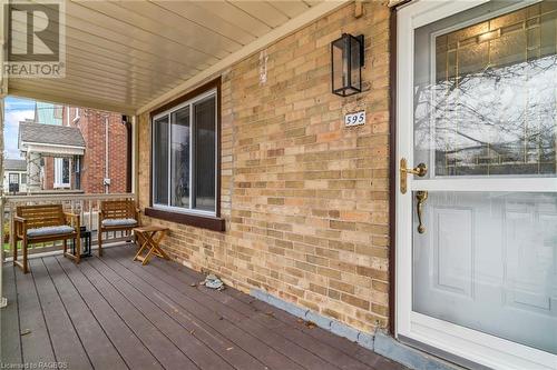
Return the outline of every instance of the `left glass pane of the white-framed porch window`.
{"type": "Polygon", "coordinates": [[[153,122],[154,203],[168,206],[168,116],[153,122]]]}

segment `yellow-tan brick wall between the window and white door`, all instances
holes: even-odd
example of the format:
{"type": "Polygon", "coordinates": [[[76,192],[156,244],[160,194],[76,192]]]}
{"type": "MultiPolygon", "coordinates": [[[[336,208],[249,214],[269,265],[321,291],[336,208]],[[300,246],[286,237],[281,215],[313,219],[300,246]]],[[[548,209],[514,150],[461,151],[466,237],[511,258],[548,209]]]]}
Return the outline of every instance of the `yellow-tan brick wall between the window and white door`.
{"type": "MultiPolygon", "coordinates": [[[[165,248],[243,290],[264,289],[354,328],[388,324],[389,10],[353,3],[222,72],[225,232],[145,218],[172,231],[165,248]],[[330,42],[365,36],[365,92],[331,91],[330,42]],[[365,109],[363,127],[345,112],[365,109]]],[[[186,92],[186,91],[184,91],[186,92]]],[[[148,114],[139,137],[149,138],[148,114]]],[[[139,140],[139,202],[149,202],[150,143],[139,140]]]]}

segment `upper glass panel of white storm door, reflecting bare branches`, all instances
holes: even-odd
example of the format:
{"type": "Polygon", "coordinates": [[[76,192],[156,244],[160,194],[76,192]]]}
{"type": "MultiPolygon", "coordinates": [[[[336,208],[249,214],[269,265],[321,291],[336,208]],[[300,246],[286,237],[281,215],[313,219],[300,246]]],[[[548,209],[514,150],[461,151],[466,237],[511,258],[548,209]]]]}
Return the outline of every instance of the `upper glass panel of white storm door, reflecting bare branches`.
{"type": "Polygon", "coordinates": [[[466,18],[417,30],[414,162],[426,179],[555,176],[557,2],[466,18]]]}

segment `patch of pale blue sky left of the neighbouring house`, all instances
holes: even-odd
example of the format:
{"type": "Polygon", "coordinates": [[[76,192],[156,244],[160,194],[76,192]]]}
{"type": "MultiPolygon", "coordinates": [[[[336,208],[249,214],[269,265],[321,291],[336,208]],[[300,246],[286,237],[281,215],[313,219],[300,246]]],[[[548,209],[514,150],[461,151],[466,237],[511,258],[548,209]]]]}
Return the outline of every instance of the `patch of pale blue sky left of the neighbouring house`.
{"type": "Polygon", "coordinates": [[[4,153],[6,158],[21,158],[18,150],[19,121],[33,119],[35,100],[7,97],[4,99],[4,153]]]}

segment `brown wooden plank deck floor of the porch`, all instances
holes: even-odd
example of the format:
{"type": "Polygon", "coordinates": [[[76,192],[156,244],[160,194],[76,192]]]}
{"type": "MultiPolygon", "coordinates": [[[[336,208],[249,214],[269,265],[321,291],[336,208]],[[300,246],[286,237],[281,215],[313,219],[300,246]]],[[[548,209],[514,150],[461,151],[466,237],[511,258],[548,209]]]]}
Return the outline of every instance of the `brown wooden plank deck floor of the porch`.
{"type": "Polygon", "coordinates": [[[79,266],[3,268],[2,363],[67,369],[403,369],[402,366],[174,262],[133,262],[131,246],[79,266]]]}

